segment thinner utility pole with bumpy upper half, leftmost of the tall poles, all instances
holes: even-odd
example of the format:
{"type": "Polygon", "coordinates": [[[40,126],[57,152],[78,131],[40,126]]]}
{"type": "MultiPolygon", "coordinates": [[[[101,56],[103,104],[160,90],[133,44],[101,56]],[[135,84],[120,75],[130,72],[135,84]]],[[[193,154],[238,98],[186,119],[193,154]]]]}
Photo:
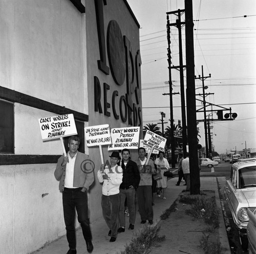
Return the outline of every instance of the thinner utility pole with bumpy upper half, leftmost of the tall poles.
{"type": "Polygon", "coordinates": [[[171,147],[171,150],[172,150],[172,168],[175,168],[175,162],[176,162],[176,158],[175,158],[175,141],[174,141],[174,115],[173,115],[173,95],[172,95],[172,72],[171,72],[171,64],[172,64],[172,61],[170,60],[171,59],[171,56],[170,56],[170,27],[169,27],[169,24],[170,24],[170,21],[169,21],[169,16],[167,15],[166,17],[167,19],[167,42],[168,42],[168,48],[167,48],[167,51],[168,51],[168,69],[169,69],[169,93],[170,93],[170,147],[171,147]]]}

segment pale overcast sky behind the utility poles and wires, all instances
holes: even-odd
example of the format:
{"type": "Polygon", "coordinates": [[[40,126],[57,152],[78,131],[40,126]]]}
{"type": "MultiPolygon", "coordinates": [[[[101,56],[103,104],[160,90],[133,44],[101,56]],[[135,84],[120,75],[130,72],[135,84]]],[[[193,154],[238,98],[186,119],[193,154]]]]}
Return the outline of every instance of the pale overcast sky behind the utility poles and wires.
{"type": "MultiPolygon", "coordinates": [[[[183,10],[182,0],[127,0],[140,24],[142,117],[147,123],[170,124],[167,62],[166,12],[183,10]]],[[[177,16],[169,15],[170,23],[177,16]]],[[[185,14],[181,16],[185,20],[185,14]]],[[[238,116],[232,121],[211,122],[212,144],[219,154],[256,148],[256,1],[193,0],[195,75],[202,77],[207,103],[229,109],[238,116]],[[246,17],[244,17],[246,15],[246,17]],[[203,67],[202,67],[203,66],[203,67]]],[[[178,29],[171,27],[172,65],[179,65],[178,29]]],[[[185,27],[182,28],[183,64],[185,27]]],[[[172,69],[173,93],[180,92],[179,71],[172,69]]],[[[184,70],[186,86],[186,70],[184,70]]],[[[196,93],[202,94],[202,80],[196,79],[196,93]]],[[[197,95],[202,100],[202,96],[197,95]]],[[[197,100],[197,109],[202,107],[197,100]]],[[[208,105],[208,104],[207,104],[208,105]]],[[[212,107],[213,110],[222,109],[212,107]]],[[[210,110],[210,107],[207,107],[210,110]]],[[[224,111],[224,114],[228,111],[224,111]]],[[[207,112],[207,115],[210,112],[207,112]]],[[[173,95],[175,124],[181,119],[180,94],[173,95]]],[[[217,119],[216,112],[209,117],[217,119]]],[[[203,119],[197,113],[197,119],[203,119]]],[[[158,124],[161,129],[161,124],[158,124]]],[[[204,124],[199,122],[200,144],[205,146],[204,124]]]]}

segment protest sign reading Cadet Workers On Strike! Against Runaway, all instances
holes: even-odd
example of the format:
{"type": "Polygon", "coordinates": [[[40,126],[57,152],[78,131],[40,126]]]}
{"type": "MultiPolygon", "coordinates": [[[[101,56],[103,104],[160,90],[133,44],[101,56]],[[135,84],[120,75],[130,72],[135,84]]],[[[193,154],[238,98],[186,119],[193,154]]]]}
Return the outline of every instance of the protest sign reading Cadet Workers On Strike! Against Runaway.
{"type": "Polygon", "coordinates": [[[73,114],[38,119],[42,141],[77,135],[73,114]]]}

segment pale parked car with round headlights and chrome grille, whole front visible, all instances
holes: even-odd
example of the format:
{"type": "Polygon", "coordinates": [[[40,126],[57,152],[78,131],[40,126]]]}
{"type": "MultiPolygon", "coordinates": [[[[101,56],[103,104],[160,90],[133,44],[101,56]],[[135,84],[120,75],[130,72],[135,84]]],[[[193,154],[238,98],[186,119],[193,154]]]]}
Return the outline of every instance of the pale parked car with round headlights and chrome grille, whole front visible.
{"type": "Polygon", "coordinates": [[[224,196],[236,224],[243,250],[248,248],[246,227],[248,208],[256,212],[256,159],[244,159],[231,167],[230,179],[226,181],[224,196]]]}

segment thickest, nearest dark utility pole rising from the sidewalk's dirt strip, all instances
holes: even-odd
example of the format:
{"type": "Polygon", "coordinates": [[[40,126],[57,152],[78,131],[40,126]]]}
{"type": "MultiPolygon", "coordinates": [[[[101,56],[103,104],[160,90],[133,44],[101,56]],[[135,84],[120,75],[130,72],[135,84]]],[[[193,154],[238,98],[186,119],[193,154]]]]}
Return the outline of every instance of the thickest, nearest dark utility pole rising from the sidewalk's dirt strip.
{"type": "Polygon", "coordinates": [[[189,149],[190,194],[200,194],[200,171],[197,153],[197,113],[195,91],[195,56],[192,0],[185,0],[187,139],[189,149]]]}

